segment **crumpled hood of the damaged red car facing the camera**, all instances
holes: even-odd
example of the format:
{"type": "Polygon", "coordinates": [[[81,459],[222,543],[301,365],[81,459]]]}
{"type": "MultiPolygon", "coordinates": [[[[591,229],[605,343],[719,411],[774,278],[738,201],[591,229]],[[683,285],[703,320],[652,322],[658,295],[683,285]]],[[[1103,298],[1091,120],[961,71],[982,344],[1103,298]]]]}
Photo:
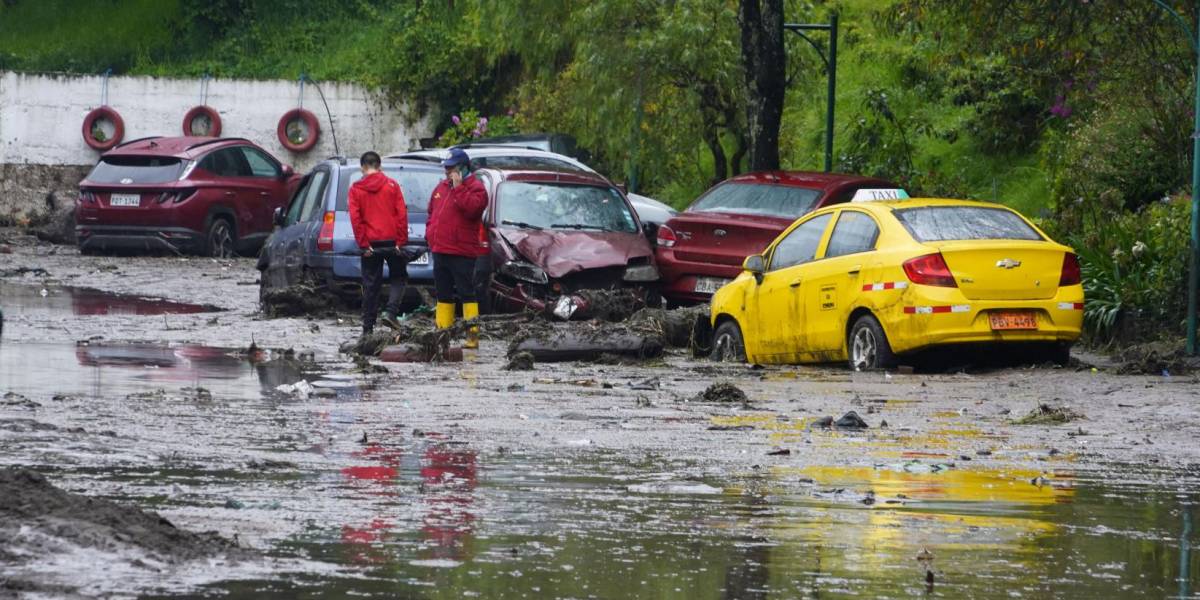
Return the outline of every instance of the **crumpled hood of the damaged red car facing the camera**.
{"type": "Polygon", "coordinates": [[[646,238],[632,233],[499,229],[522,257],[558,278],[584,269],[624,266],[650,257],[646,238]]]}

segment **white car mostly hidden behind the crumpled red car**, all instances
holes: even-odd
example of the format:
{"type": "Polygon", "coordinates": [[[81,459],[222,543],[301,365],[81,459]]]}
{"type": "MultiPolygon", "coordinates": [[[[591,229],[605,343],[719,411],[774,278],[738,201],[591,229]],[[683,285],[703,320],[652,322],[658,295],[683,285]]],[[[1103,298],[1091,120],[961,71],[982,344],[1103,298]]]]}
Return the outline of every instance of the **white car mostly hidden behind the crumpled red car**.
{"type": "MultiPolygon", "coordinates": [[[[592,167],[588,167],[570,156],[539,150],[536,148],[512,144],[482,144],[478,142],[463,144],[457,148],[467,150],[467,154],[470,156],[470,166],[473,169],[487,167],[528,169],[550,168],[582,170],[584,173],[598,174],[592,167]]],[[[410,152],[391,155],[390,158],[409,158],[440,163],[442,160],[448,156],[450,156],[450,149],[446,148],[413,150],[410,152]]],[[[634,211],[637,212],[637,217],[643,223],[653,223],[658,226],[666,221],[667,215],[677,212],[671,206],[655,200],[654,198],[638,194],[629,194],[628,198],[630,204],[634,206],[634,211]]]]}

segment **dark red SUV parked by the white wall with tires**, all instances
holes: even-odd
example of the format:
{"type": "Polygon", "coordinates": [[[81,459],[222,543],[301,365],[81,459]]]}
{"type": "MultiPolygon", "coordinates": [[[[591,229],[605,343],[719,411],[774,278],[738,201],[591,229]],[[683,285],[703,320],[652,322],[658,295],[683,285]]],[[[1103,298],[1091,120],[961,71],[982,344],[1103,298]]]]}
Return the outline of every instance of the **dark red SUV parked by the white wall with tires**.
{"type": "Polygon", "coordinates": [[[79,182],[79,251],[253,253],[299,176],[240,138],[144,138],[100,157],[79,182]]]}

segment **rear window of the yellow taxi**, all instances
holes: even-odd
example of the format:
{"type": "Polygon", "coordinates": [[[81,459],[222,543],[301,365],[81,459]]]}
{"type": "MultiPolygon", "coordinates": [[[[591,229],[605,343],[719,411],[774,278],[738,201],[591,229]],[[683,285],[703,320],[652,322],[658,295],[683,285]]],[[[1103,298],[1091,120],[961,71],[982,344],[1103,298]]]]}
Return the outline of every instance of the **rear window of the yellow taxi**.
{"type": "Polygon", "coordinates": [[[984,206],[917,206],[894,212],[917,241],[1040,240],[1019,215],[984,206]]]}

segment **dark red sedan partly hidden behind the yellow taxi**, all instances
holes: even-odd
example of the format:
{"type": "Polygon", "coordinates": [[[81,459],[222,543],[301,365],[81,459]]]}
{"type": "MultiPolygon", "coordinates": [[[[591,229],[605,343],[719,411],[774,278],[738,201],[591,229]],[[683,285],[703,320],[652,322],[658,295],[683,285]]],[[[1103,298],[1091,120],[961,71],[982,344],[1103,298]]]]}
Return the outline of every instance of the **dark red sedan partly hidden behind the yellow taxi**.
{"type": "Polygon", "coordinates": [[[805,172],[748,173],[704,192],[658,230],[662,296],[671,304],[707,302],[808,212],[848,202],[864,188],[895,188],[881,179],[805,172]]]}

